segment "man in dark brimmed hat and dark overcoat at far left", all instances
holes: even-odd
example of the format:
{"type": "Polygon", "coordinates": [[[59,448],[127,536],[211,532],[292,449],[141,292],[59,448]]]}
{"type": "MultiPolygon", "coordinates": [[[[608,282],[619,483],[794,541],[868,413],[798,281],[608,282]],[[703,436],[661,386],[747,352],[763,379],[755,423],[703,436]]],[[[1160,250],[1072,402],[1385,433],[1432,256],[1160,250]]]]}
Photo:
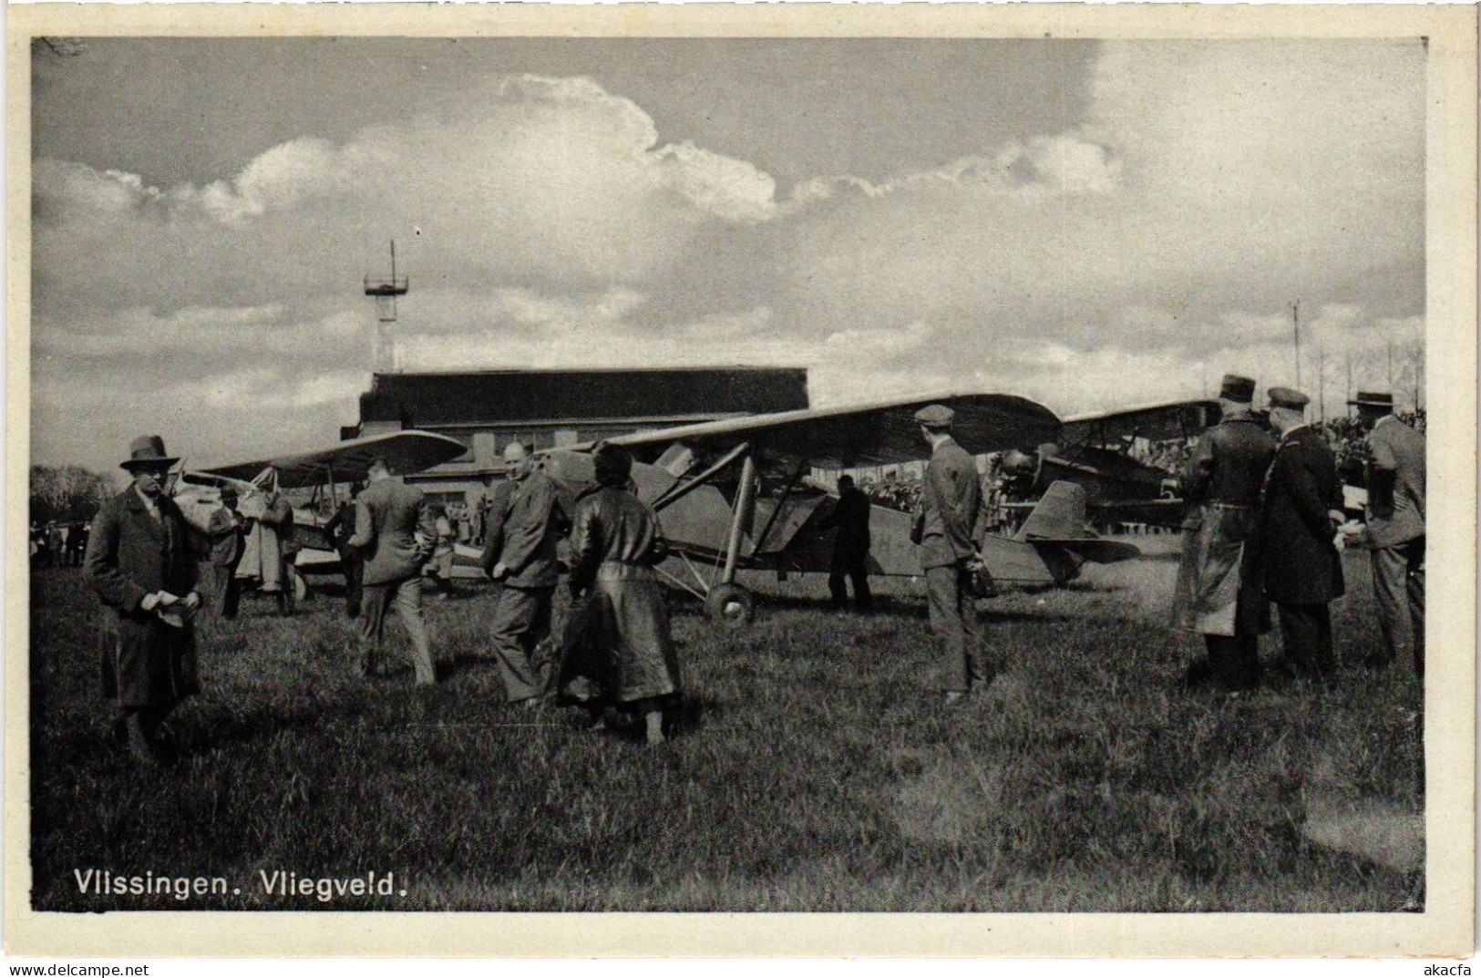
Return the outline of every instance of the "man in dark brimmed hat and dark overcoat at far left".
{"type": "Polygon", "coordinates": [[[170,467],[164,440],[147,434],[120,462],[133,477],[93,517],[83,566],[102,603],[104,695],[114,699],[116,728],[144,765],[163,760],[158,728],[198,689],[195,634],[195,547],[190,525],[164,492],[170,467]]]}

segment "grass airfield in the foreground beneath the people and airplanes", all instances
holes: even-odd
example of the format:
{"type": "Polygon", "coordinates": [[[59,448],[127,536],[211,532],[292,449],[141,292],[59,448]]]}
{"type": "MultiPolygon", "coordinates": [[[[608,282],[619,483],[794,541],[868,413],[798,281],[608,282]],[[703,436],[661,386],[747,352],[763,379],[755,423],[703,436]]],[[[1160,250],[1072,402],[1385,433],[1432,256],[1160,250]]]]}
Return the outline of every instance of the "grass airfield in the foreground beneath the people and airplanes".
{"type": "MultiPolygon", "coordinates": [[[[434,645],[458,664],[425,691],[409,674],[352,674],[339,599],[314,596],[290,621],[247,599],[238,621],[201,624],[204,692],[170,722],[184,760],[153,772],[105,736],[96,602],[77,570],[41,570],[33,902],[1420,907],[1414,852],[1351,842],[1419,808],[1420,688],[1407,664],[1345,671],[1330,692],[1183,692],[1177,677],[1197,643],[1163,625],[1173,572],[1166,559],[1091,568],[1068,590],[983,603],[997,674],[951,710],[924,686],[930,633],[909,587],[887,591],[881,613],[852,616],[807,600],[825,593],[822,579],[772,581],[778,597],[740,633],[677,605],[689,705],[678,736],[658,748],[586,732],[575,716],[507,710],[486,658],[487,590],[431,603],[434,645]],[[219,876],[241,892],[83,895],[74,870],[86,868],[219,876]],[[268,897],[258,874],[275,870],[394,873],[406,897],[268,897]]],[[[1364,562],[1348,562],[1348,581],[1334,618],[1339,652],[1355,655],[1376,642],[1364,562]]],[[[1274,637],[1263,652],[1275,652],[1274,637]]]]}

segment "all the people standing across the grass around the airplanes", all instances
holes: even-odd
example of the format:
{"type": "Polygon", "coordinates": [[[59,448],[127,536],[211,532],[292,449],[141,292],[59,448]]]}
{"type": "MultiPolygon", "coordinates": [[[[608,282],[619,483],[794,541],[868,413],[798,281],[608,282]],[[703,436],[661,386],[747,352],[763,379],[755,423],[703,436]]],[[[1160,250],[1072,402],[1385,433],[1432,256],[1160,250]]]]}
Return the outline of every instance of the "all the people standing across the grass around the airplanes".
{"type": "MultiPolygon", "coordinates": [[[[1308,397],[1271,388],[1268,415],[1257,415],[1253,394],[1253,379],[1225,378],[1222,419],[1198,440],[1179,474],[1188,516],[1173,625],[1201,634],[1207,649],[1189,682],[1225,692],[1259,686],[1257,639],[1271,628],[1271,603],[1280,619],[1281,671],[1330,682],[1337,662],[1328,606],[1345,591],[1339,541],[1371,553],[1383,648],[1365,664],[1383,667],[1410,655],[1422,673],[1423,434],[1394,418],[1388,394],[1364,393],[1351,402],[1365,433],[1368,511],[1365,523],[1345,523],[1337,456],[1306,422],[1308,397]]],[[[983,488],[976,461],[954,440],[949,408],[924,408],[915,421],[930,461],[914,492],[911,541],[936,636],[932,685],[949,705],[991,682],[974,599],[992,593],[980,557],[994,523],[992,483],[983,488]]],[[[201,542],[164,490],[175,461],[158,436],[135,440],[121,462],[133,482],[99,510],[84,559],[95,591],[113,609],[105,616],[104,685],[118,707],[117,731],[145,763],[160,762],[160,722],[198,685],[191,627],[203,605],[197,557],[209,554],[210,590],[221,596],[227,618],[237,611],[243,560],[256,562],[253,572],[264,582],[275,578],[277,593],[292,593],[283,579],[292,507],[275,483],[253,501],[250,514],[224,492],[201,542]]],[[[581,707],[594,728],[635,714],[647,741],[662,742],[681,680],[655,572],[666,545],[653,510],[634,490],[631,455],[598,445],[595,486],[569,508],[523,445],[509,445],[504,462],[508,479],[461,516],[465,525],[477,523],[481,566],[499,584],[489,628],[508,702],[520,710],[581,707]],[[561,538],[569,538],[564,563],[557,559],[561,538]],[[563,575],[573,603],[560,634],[552,634],[563,575]]],[[[446,507],[392,476],[387,459],[373,459],[367,485],[326,529],[344,559],[347,611],[360,619],[360,674],[387,674],[385,624],[394,609],[410,639],[415,682],[432,685],[437,662],[422,593],[428,578],[450,581],[462,533],[446,507]]],[[[837,528],[834,603],[847,603],[852,584],[853,603],[865,611],[872,603],[866,490],[844,476],[840,501],[826,517],[837,528]]],[[[467,539],[475,539],[471,526],[467,539]]]]}

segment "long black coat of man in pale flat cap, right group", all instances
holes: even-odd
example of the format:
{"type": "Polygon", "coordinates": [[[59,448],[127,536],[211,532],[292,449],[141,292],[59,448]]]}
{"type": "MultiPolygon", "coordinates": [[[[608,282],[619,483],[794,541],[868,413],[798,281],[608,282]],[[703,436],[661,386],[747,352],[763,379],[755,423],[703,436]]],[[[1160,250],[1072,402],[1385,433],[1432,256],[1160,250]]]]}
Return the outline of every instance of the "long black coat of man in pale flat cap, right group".
{"type": "Polygon", "coordinates": [[[1342,597],[1342,560],[1328,510],[1342,511],[1337,459],[1315,428],[1287,433],[1275,449],[1260,519],[1265,593],[1281,605],[1342,597]]]}

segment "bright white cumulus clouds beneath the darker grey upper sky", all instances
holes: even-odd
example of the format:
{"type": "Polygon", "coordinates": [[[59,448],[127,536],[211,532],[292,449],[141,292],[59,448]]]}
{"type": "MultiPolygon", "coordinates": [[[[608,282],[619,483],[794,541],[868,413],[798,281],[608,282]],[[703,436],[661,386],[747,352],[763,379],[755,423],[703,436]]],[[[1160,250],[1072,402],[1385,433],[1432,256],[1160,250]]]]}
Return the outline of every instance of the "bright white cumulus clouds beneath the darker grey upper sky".
{"type": "Polygon", "coordinates": [[[1423,70],[1417,41],[1106,43],[1072,129],[785,193],[538,76],[198,187],[37,160],[36,452],[172,418],[227,456],[332,440],[391,236],[409,369],[788,363],[818,403],[974,384],[1071,413],[1290,382],[1300,298],[1303,382],[1321,351],[1380,385],[1423,341],[1423,70]]]}

